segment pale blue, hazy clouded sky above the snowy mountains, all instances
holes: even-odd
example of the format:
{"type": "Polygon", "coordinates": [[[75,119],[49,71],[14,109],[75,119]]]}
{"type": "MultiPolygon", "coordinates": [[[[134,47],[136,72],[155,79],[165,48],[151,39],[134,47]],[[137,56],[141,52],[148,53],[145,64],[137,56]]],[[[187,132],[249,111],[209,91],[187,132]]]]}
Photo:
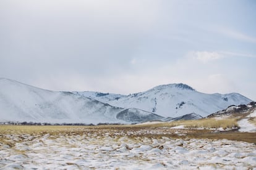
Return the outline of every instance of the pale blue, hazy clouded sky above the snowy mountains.
{"type": "Polygon", "coordinates": [[[185,83],[256,100],[256,1],[1,0],[0,77],[130,94],[185,83]]]}

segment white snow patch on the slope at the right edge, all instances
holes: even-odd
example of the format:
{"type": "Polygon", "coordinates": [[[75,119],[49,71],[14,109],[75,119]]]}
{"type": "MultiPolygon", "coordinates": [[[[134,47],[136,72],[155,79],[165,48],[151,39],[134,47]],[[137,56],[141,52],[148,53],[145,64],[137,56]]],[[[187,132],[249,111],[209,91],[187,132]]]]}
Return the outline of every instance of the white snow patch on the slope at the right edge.
{"type": "Polygon", "coordinates": [[[256,117],[256,111],[254,111],[254,113],[250,113],[250,115],[238,121],[237,123],[238,123],[238,126],[240,127],[239,131],[240,132],[256,132],[255,124],[252,124],[249,122],[249,119],[254,117],[256,117]]]}

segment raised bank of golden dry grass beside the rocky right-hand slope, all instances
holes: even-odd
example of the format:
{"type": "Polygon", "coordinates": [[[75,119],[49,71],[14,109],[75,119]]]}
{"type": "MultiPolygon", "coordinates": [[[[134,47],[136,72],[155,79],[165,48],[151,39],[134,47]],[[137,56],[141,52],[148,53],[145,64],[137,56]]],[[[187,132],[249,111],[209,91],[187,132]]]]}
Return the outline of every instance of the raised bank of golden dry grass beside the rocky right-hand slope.
{"type": "Polygon", "coordinates": [[[188,121],[173,121],[170,123],[155,123],[155,124],[138,124],[136,127],[174,127],[184,125],[188,128],[220,128],[223,129],[237,127],[237,119],[200,119],[200,120],[188,120],[188,121]]]}

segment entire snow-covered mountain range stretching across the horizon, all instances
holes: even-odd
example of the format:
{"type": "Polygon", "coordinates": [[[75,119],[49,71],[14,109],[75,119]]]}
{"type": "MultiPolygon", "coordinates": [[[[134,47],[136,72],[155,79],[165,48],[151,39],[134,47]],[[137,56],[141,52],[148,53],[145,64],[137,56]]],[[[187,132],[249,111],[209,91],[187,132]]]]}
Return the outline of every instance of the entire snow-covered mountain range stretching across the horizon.
{"type": "Polygon", "coordinates": [[[198,119],[229,105],[249,102],[252,100],[241,94],[203,94],[181,83],[121,95],[49,91],[0,78],[0,122],[98,124],[198,119]]]}

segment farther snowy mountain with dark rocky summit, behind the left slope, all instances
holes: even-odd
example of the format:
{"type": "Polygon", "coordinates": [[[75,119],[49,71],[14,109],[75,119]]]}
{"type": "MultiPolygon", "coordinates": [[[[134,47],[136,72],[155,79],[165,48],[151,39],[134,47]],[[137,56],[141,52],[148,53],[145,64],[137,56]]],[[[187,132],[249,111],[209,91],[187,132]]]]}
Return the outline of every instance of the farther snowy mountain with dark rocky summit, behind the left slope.
{"type": "Polygon", "coordinates": [[[130,95],[88,91],[73,93],[109,103],[109,105],[115,107],[139,108],[157,115],[173,118],[190,113],[205,117],[223,110],[229,105],[252,102],[252,100],[237,93],[204,94],[182,83],[156,86],[148,91],[130,95]]]}

